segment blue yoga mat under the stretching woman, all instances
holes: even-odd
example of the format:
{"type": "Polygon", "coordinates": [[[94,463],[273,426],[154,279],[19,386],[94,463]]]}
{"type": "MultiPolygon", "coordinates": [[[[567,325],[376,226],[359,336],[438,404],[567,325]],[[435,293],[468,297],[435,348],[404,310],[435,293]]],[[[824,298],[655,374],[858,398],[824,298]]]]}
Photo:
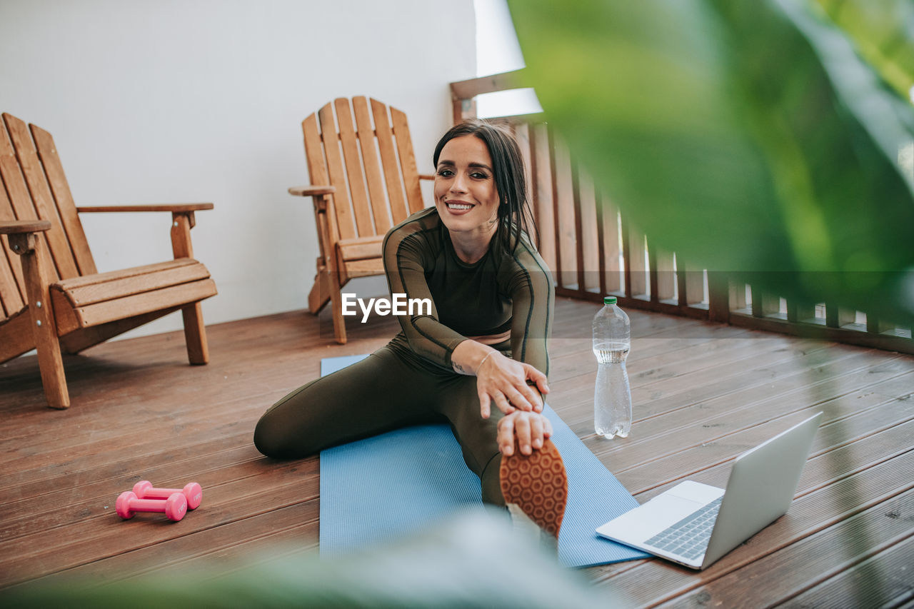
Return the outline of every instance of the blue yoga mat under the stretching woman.
{"type": "MultiPolygon", "coordinates": [[[[321,376],[365,357],[323,359],[321,376]]],[[[638,502],[555,411],[547,406],[544,412],[569,476],[558,561],[590,567],[647,558],[594,532],[638,502]]],[[[463,463],[446,424],[407,427],[321,452],[323,556],[399,540],[449,512],[473,506],[483,509],[479,478],[463,463]]]]}

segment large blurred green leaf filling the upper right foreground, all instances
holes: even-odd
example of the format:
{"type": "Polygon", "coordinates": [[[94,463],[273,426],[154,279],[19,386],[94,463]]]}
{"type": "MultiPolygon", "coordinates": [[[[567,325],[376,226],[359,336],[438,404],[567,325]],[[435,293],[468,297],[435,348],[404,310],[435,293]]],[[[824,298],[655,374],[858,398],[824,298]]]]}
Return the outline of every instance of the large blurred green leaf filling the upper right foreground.
{"type": "Polygon", "coordinates": [[[547,120],[649,240],[777,294],[914,321],[897,162],[914,109],[813,1],[509,5],[547,120]]]}

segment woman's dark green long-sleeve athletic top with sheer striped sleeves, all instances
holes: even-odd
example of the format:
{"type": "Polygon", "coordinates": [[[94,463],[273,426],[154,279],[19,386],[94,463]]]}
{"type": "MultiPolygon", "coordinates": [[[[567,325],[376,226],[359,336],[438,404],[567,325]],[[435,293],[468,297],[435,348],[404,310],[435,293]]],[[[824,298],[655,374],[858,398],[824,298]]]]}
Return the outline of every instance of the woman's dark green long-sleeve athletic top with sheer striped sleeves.
{"type": "Polygon", "coordinates": [[[452,369],[451,355],[467,337],[511,331],[511,356],[548,374],[547,341],[555,294],[546,263],[523,236],[514,253],[492,240],[473,264],[462,262],[436,208],[423,209],[384,239],[390,294],[429,298],[430,315],[399,315],[408,344],[422,358],[452,369]]]}

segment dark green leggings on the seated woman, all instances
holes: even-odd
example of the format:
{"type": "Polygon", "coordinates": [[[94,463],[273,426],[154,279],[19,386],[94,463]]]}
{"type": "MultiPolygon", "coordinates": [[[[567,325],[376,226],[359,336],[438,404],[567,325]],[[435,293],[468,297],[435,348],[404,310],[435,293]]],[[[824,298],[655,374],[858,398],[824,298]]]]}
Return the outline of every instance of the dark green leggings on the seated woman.
{"type": "Polygon", "coordinates": [[[408,425],[449,422],[463,461],[480,478],[483,501],[504,506],[496,442],[502,416],[497,408],[489,419],[480,416],[475,377],[388,345],[276,402],[260,417],[254,445],[267,456],[296,459],[408,425]]]}

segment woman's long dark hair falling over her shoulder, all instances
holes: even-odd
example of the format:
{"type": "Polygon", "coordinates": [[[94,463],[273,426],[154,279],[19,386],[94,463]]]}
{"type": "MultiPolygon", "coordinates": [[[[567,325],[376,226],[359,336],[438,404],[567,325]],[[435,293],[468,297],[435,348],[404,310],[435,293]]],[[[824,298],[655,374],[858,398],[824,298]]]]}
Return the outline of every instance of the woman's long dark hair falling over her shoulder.
{"type": "Polygon", "coordinates": [[[436,170],[444,144],[463,135],[473,135],[483,140],[492,157],[492,171],[499,203],[495,239],[499,245],[514,253],[521,240],[522,231],[536,243],[539,235],[526,199],[524,157],[520,154],[520,147],[514,135],[501,125],[480,120],[456,124],[441,136],[441,141],[435,146],[432,163],[436,170]]]}

